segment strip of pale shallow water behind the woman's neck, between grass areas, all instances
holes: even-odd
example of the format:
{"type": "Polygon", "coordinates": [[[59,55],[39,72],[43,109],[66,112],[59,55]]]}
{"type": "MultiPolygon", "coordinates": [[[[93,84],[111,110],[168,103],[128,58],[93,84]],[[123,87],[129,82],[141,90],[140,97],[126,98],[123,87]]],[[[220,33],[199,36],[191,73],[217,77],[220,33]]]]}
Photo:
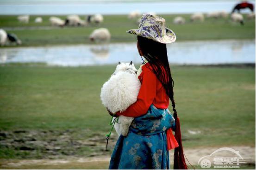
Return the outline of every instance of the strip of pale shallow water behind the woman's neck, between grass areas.
{"type": "MultiPolygon", "coordinates": [[[[168,44],[171,64],[255,63],[255,40],[180,41],[168,44]]],[[[63,45],[51,47],[1,48],[0,63],[42,62],[49,65],[79,66],[141,63],[136,43],[63,45]]]]}

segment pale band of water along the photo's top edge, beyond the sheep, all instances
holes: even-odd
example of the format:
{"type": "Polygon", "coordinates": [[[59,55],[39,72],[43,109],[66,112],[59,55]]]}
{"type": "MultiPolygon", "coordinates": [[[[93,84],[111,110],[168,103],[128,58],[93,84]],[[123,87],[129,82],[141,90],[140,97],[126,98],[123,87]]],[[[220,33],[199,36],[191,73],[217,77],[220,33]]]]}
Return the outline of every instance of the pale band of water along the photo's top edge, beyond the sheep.
{"type": "MultiPolygon", "coordinates": [[[[250,1],[255,4],[255,1],[250,1]]],[[[118,1],[118,0],[0,0],[0,14],[2,15],[65,15],[65,14],[128,14],[138,10],[142,13],[156,12],[193,13],[213,12],[224,10],[231,12],[240,0],[196,0],[196,1],[118,1]]],[[[243,12],[250,12],[246,9],[243,12]]]]}

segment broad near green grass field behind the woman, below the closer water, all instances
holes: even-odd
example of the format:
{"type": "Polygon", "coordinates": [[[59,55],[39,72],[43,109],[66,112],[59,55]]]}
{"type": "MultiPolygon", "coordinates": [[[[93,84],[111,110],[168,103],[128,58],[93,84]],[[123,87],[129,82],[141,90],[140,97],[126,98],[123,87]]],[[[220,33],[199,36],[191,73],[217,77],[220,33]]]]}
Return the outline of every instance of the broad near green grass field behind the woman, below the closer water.
{"type": "MultiPolygon", "coordinates": [[[[0,129],[107,132],[100,88],[115,66],[0,67],[0,129]]],[[[255,69],[172,66],[186,147],[255,146],[255,69]],[[190,135],[187,130],[200,130],[190,135]]]]}

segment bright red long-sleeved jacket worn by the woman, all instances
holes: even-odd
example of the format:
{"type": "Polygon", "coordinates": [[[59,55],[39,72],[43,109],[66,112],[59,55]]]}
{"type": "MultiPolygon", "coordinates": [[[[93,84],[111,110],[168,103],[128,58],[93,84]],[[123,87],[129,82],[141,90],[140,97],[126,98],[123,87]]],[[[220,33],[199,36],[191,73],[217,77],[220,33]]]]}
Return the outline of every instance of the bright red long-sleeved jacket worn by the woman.
{"type": "Polygon", "coordinates": [[[158,109],[167,109],[169,106],[169,96],[165,93],[162,83],[150,70],[150,63],[142,66],[142,72],[138,76],[141,88],[137,101],[123,112],[116,112],[117,116],[139,117],[147,113],[150,105],[153,104],[158,109]]]}

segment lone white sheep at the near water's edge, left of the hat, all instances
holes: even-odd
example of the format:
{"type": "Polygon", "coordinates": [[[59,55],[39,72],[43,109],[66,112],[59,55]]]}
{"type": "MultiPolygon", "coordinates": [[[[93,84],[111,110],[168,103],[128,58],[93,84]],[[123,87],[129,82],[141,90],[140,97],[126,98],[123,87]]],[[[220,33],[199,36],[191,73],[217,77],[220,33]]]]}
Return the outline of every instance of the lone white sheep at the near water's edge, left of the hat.
{"type": "Polygon", "coordinates": [[[95,41],[97,43],[105,43],[110,41],[111,35],[108,29],[106,28],[100,28],[95,29],[92,34],[89,36],[89,39],[91,41],[95,41]]]}

